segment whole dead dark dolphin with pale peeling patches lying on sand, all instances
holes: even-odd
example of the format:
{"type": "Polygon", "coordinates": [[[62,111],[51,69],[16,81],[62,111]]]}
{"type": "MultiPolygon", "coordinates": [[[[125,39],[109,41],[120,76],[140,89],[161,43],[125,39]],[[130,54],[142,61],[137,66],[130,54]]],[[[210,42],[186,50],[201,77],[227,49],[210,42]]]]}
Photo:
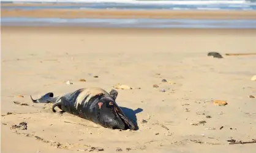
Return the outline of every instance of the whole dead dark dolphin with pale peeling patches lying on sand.
{"type": "Polygon", "coordinates": [[[110,93],[107,93],[102,88],[91,87],[81,88],[58,97],[53,97],[53,93],[47,93],[34,100],[31,96],[31,100],[34,103],[52,102],[53,112],[56,112],[55,107],[58,106],[64,112],[88,119],[103,127],[136,130],[137,127],[135,127],[134,123],[124,115],[118,104],[116,104],[117,96],[118,91],[116,90],[111,90],[110,93]]]}

